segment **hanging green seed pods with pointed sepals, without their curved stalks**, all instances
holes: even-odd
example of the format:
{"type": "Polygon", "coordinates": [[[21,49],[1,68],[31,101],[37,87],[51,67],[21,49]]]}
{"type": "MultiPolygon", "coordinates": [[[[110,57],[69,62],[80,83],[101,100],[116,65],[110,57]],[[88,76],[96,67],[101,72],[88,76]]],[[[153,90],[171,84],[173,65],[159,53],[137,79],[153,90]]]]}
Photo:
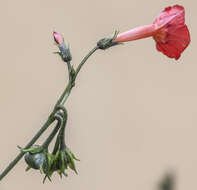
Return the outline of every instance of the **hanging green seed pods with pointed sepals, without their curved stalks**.
{"type": "Polygon", "coordinates": [[[79,161],[79,159],[67,147],[64,150],[58,150],[55,155],[41,146],[32,146],[30,149],[21,149],[21,151],[25,152],[24,158],[28,165],[26,171],[40,170],[41,174],[45,174],[43,183],[47,178],[51,181],[54,172],[57,172],[61,178],[62,174],[67,177],[65,170],[68,168],[77,174],[74,160],[79,161]],[[40,147],[39,150],[38,147],[40,147]]]}

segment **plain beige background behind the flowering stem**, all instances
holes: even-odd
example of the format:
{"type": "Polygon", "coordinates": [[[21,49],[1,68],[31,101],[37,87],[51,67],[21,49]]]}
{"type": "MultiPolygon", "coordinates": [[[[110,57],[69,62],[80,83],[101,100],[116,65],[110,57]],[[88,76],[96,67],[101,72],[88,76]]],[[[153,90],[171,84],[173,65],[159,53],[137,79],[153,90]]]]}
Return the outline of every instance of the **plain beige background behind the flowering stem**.
{"type": "Polygon", "coordinates": [[[150,24],[177,3],[192,39],[178,61],[144,39],[98,51],[80,73],[66,103],[66,141],[81,159],[79,175],[54,175],[43,185],[39,172],[25,173],[22,160],[0,190],[152,190],[169,170],[178,190],[197,189],[194,0],[1,0],[0,170],[42,126],[66,84],[65,65],[52,54],[53,30],[69,42],[76,66],[115,29],[150,24]]]}

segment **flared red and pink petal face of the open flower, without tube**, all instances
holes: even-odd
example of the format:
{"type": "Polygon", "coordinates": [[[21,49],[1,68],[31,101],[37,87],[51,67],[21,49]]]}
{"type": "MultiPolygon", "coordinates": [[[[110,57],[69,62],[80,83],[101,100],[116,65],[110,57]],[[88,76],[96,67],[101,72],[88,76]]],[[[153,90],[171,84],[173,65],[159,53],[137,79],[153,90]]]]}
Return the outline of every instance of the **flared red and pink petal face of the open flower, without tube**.
{"type": "Polygon", "coordinates": [[[154,24],[158,28],[161,27],[153,36],[157,50],[170,58],[178,59],[190,43],[190,33],[185,25],[184,7],[180,5],[167,7],[156,18],[154,24]]]}

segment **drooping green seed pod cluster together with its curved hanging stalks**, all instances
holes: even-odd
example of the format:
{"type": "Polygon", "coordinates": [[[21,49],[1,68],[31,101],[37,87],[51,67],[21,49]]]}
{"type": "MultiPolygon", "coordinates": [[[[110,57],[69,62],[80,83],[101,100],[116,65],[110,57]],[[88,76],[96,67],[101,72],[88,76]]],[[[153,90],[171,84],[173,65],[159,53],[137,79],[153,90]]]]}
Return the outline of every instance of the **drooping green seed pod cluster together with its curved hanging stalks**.
{"type": "Polygon", "coordinates": [[[78,160],[71,150],[66,146],[64,140],[65,126],[67,121],[67,111],[64,107],[59,106],[56,108],[56,114],[54,118],[58,121],[56,127],[46,139],[46,141],[40,145],[34,145],[29,149],[22,149],[21,152],[25,153],[25,162],[27,163],[26,171],[29,169],[40,170],[41,174],[45,174],[43,183],[48,178],[51,181],[51,176],[54,172],[57,172],[60,177],[62,175],[68,176],[65,172],[68,168],[73,170],[77,174],[75,167],[75,160],[78,160]],[[52,153],[48,151],[49,144],[58,132],[56,143],[52,153]]]}

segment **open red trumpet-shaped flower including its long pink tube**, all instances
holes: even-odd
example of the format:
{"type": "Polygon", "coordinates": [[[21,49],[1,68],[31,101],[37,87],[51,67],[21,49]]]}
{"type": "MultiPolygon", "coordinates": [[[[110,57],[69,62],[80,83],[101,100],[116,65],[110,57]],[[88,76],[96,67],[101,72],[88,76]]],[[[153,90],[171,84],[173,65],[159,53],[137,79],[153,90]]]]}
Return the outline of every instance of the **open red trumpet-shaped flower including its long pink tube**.
{"type": "Polygon", "coordinates": [[[178,59],[190,43],[190,34],[185,25],[185,10],[180,5],[167,7],[153,24],[120,33],[115,41],[127,42],[153,37],[158,51],[178,59]]]}

